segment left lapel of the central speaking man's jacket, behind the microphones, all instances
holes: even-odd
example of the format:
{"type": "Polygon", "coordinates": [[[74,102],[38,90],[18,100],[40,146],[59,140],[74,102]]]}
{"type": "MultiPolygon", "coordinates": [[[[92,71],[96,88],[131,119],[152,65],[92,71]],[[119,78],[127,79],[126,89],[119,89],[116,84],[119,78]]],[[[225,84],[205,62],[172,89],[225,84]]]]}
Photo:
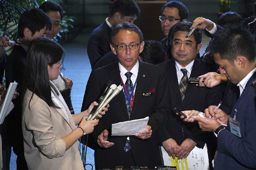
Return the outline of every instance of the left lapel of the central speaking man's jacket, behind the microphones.
{"type": "MultiPolygon", "coordinates": [[[[118,61],[114,63],[115,64],[113,64],[113,67],[110,68],[109,77],[110,77],[110,80],[113,81],[113,83],[115,83],[118,86],[122,81],[121,81],[118,61]]],[[[129,120],[129,115],[128,115],[125,100],[124,100],[124,91],[122,90],[116,97],[118,98],[118,101],[120,102],[120,105],[124,110],[125,116],[129,120]]]]}

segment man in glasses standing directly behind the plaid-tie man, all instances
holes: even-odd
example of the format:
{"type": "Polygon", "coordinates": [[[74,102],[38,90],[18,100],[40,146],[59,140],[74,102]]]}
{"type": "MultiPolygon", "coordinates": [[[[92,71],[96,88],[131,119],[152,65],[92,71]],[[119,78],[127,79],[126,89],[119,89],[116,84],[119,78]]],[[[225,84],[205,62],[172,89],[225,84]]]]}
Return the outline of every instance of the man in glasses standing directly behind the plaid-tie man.
{"type": "Polygon", "coordinates": [[[166,38],[161,41],[161,44],[164,46],[164,50],[167,49],[167,36],[171,28],[179,22],[186,21],[187,19],[188,8],[180,1],[170,1],[164,4],[161,8],[161,16],[159,16],[159,20],[161,21],[162,31],[166,36],[166,38]]]}

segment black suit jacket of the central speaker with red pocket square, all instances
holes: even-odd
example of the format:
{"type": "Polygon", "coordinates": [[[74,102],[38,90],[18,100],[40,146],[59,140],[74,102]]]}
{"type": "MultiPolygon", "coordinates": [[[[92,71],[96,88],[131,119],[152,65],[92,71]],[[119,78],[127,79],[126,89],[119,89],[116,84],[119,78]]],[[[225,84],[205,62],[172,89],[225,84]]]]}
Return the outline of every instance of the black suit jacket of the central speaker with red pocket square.
{"type": "MultiPolygon", "coordinates": [[[[170,112],[170,93],[168,90],[167,76],[165,70],[159,66],[140,62],[134,104],[130,120],[141,119],[149,116],[148,125],[151,126],[153,134],[147,140],[130,137],[132,155],[136,166],[155,167],[157,164],[157,131],[161,128],[162,122],[166,119],[167,112],[170,112]],[[155,89],[152,96],[143,96],[143,93],[155,89]]],[[[92,71],[87,88],[88,93],[84,96],[84,106],[89,106],[100,94],[101,89],[108,80],[115,84],[121,82],[118,61],[92,71]]],[[[111,136],[111,124],[128,121],[128,112],[125,105],[124,93],[121,91],[109,103],[108,112],[100,119],[93,131],[94,139],[107,129],[109,132],[108,141],[115,144],[110,148],[96,150],[96,165],[115,168],[122,165],[122,154],[127,136],[111,136]]],[[[82,108],[83,110],[83,108],[82,108]]]]}

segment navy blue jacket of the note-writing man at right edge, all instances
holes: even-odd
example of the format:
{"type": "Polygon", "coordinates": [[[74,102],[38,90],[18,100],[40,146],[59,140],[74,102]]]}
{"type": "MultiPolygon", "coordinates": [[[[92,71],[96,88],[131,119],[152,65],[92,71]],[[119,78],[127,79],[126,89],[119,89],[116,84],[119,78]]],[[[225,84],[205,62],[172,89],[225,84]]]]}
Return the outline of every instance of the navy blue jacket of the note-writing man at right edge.
{"type": "Polygon", "coordinates": [[[218,135],[218,152],[214,169],[240,170],[256,169],[256,104],[255,83],[256,73],[247,82],[242,95],[234,105],[230,117],[240,122],[241,138],[230,132],[230,127],[221,130],[218,135]]]}

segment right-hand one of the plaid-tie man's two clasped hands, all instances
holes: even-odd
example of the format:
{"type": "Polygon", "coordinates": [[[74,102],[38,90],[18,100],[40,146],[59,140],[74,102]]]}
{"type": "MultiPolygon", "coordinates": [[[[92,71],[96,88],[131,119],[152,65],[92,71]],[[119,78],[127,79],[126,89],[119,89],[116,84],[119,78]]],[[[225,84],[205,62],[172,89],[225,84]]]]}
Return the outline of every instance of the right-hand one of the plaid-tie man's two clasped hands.
{"type": "Polygon", "coordinates": [[[193,140],[187,138],[181,143],[180,147],[174,151],[174,154],[178,159],[187,158],[195,146],[196,143],[193,140]]]}

